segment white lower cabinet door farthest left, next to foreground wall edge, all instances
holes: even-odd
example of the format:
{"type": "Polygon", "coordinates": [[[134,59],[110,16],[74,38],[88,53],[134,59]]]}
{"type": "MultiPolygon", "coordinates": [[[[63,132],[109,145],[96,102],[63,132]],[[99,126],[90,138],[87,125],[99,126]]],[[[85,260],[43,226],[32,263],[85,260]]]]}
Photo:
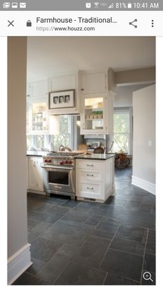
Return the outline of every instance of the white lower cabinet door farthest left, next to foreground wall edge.
{"type": "Polygon", "coordinates": [[[28,158],[28,188],[37,190],[36,159],[28,158]]]}

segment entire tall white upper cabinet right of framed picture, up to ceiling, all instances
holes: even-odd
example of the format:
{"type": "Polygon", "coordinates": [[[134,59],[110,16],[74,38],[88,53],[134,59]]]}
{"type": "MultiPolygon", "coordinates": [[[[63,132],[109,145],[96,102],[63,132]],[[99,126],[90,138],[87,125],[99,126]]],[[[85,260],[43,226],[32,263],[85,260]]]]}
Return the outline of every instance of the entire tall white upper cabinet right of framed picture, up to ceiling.
{"type": "Polygon", "coordinates": [[[113,70],[81,72],[81,134],[113,134],[113,70]]]}

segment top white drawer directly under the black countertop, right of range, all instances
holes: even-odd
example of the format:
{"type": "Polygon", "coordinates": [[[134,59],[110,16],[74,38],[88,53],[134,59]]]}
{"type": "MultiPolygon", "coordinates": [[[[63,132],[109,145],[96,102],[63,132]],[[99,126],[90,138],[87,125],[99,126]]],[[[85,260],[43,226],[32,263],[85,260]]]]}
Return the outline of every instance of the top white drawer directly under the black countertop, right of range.
{"type": "Polygon", "coordinates": [[[97,170],[99,172],[103,170],[103,163],[101,161],[77,160],[77,168],[84,168],[85,170],[90,170],[91,172],[97,170]]]}

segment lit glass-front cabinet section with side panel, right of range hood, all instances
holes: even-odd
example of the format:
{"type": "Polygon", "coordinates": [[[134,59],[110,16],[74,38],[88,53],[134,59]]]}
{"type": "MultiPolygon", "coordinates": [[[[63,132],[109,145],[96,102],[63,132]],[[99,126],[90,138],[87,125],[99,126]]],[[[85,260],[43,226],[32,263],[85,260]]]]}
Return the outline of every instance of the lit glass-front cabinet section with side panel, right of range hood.
{"type": "Polygon", "coordinates": [[[113,95],[88,94],[81,97],[80,134],[113,133],[113,95]]]}

